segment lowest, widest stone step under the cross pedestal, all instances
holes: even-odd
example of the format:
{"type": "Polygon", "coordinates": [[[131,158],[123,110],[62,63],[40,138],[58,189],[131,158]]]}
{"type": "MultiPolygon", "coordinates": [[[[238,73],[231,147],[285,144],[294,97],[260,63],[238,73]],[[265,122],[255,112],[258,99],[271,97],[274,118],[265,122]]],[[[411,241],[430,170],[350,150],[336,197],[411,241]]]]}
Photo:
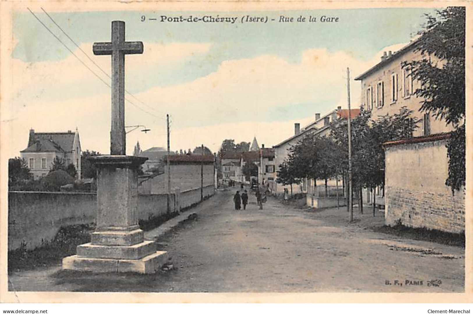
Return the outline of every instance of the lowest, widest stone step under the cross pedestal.
{"type": "Polygon", "coordinates": [[[168,256],[166,251],[156,251],[138,260],[90,258],[72,255],[62,259],[62,269],[92,272],[136,272],[140,274],[151,274],[160,270],[167,261],[168,256]]]}

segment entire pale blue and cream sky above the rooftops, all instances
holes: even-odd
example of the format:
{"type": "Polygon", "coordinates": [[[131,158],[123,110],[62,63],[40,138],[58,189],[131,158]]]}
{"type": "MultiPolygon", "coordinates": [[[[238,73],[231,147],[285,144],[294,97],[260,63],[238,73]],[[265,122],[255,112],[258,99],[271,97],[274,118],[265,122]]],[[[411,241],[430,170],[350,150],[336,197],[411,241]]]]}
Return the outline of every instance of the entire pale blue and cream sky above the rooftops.
{"type": "MultiPolygon", "coordinates": [[[[47,6],[44,9],[49,11],[47,6]]],[[[367,70],[373,60],[376,63],[375,57],[382,49],[409,42],[425,22],[423,15],[432,12],[433,9],[340,9],[281,12],[50,12],[50,15],[107,71],[110,58],[93,56],[91,44],[110,39],[112,20],[125,21],[126,39],[140,40],[145,45],[143,55],[127,56],[126,86],[128,91],[156,109],[147,110],[159,118],[129,106],[127,123],[146,123],[151,125],[149,128],[159,130],[159,135],[151,140],[141,139],[143,135],[140,133],[130,133],[130,151],[131,144],[136,140],[146,143],[141,147],[163,146],[162,117],[165,113],[173,116],[175,135],[180,136],[182,132],[183,139],[175,140],[175,149],[200,145],[197,138],[186,136],[189,130],[196,134],[201,130],[201,137],[210,132],[211,137],[205,140],[213,149],[224,140],[222,136],[250,141],[247,138],[250,133],[257,138],[260,136],[262,139],[259,141],[266,142],[267,146],[274,145],[284,139],[284,134],[292,129],[294,121],[305,121],[308,117],[312,118],[315,112],[324,113],[343,102],[346,92],[342,69],[347,66],[352,68],[352,77],[367,70]],[[275,19],[280,15],[294,18],[301,15],[307,18],[325,15],[339,17],[339,22],[227,24],[140,20],[142,15],[159,19],[161,15],[241,17],[246,14],[267,15],[275,19]],[[147,52],[147,47],[154,51],[147,52]],[[344,62],[346,64],[341,64],[344,62]],[[289,127],[282,127],[283,122],[287,122],[289,127]],[[217,131],[218,126],[228,131],[228,123],[241,124],[235,125],[233,136],[217,131]],[[209,129],[211,126],[214,129],[209,129]],[[273,127],[278,131],[268,131],[273,127]]],[[[81,59],[88,61],[42,11],[35,14],[81,59]]],[[[105,140],[98,142],[91,139],[95,137],[94,134],[106,130],[104,124],[109,125],[109,104],[105,103],[109,97],[107,87],[87,73],[79,61],[74,60],[70,52],[28,11],[14,14],[13,37],[15,46],[12,62],[18,66],[14,67],[13,75],[18,82],[14,84],[16,88],[12,92],[9,113],[12,119],[26,119],[18,122],[18,128],[32,124],[31,117],[25,117],[22,110],[35,112],[31,110],[32,107],[51,105],[54,108],[57,106],[60,114],[61,108],[67,108],[69,112],[79,110],[76,104],[87,106],[97,99],[104,103],[103,108],[95,108],[92,112],[94,116],[104,115],[100,120],[91,119],[81,112],[74,114],[70,126],[67,123],[48,122],[47,119],[33,124],[39,130],[74,129],[77,126],[84,133],[82,143],[86,147],[83,148],[106,152],[106,136],[105,140]],[[81,71],[85,71],[83,75],[81,71]],[[23,82],[21,77],[25,76],[32,77],[31,84],[23,82]]],[[[90,66],[96,70],[93,65],[90,66]]],[[[352,97],[356,103],[359,100],[359,85],[357,82],[353,84],[352,97]]],[[[138,102],[136,105],[147,108],[138,102]]],[[[62,114],[67,116],[66,112],[62,114]]],[[[27,136],[27,130],[20,132],[25,133],[23,137],[27,136]]],[[[287,134],[288,137],[290,135],[287,134]]]]}

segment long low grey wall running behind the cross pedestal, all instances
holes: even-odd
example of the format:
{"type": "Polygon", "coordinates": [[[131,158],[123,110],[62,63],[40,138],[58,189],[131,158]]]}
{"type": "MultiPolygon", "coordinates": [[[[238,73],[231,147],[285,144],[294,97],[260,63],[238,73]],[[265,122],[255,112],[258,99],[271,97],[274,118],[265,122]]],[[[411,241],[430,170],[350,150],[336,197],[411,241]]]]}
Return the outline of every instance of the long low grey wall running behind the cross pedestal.
{"type": "MultiPolygon", "coordinates": [[[[204,186],[204,198],[215,193],[213,183],[204,186]]],[[[61,227],[90,224],[96,220],[95,193],[67,192],[9,192],[8,250],[26,244],[34,249],[52,241],[61,227]]],[[[174,212],[175,194],[170,195],[170,210],[174,212]]],[[[178,193],[179,209],[201,201],[201,189],[178,193]]],[[[167,211],[166,194],[138,195],[138,218],[148,220],[167,211]]]]}

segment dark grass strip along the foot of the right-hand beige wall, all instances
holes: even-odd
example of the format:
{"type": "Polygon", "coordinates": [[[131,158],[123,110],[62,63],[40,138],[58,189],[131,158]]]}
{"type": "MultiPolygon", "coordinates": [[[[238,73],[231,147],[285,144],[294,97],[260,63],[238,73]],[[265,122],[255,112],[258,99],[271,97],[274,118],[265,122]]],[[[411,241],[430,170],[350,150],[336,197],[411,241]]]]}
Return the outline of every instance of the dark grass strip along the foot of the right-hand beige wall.
{"type": "Polygon", "coordinates": [[[373,231],[388,235],[400,236],[412,240],[430,241],[439,244],[455,245],[465,247],[465,234],[456,234],[427,228],[406,227],[398,223],[393,227],[381,226],[371,228],[373,231]]]}

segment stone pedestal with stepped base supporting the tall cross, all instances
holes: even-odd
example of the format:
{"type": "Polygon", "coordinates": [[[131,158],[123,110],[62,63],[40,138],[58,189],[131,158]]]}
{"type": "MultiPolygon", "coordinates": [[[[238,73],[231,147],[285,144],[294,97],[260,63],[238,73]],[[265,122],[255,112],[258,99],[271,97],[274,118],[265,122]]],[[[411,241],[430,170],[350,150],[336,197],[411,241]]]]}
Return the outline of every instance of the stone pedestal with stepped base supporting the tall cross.
{"type": "Polygon", "coordinates": [[[138,226],[138,168],[146,157],[96,156],[97,218],[92,242],[62,260],[62,268],[94,272],[154,273],[167,262],[138,226]]]}

